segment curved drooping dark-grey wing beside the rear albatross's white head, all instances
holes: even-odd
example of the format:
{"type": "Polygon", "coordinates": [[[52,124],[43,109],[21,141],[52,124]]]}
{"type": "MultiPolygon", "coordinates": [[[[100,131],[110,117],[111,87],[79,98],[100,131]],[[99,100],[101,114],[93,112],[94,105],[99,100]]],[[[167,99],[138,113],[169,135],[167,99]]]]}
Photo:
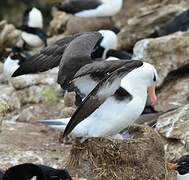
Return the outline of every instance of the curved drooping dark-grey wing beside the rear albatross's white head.
{"type": "Polygon", "coordinates": [[[102,40],[99,32],[88,32],[75,38],[66,48],[60,62],[58,83],[63,89],[69,87],[70,80],[84,65],[92,63],[91,53],[102,40]]]}

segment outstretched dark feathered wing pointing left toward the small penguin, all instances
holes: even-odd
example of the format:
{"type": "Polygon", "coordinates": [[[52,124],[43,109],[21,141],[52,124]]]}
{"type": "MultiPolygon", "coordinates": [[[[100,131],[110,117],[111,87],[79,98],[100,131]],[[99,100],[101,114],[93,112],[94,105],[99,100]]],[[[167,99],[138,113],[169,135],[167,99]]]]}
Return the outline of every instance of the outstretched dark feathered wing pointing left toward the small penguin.
{"type": "Polygon", "coordinates": [[[15,71],[13,77],[23,74],[44,72],[57,67],[60,64],[60,60],[67,45],[80,35],[81,34],[65,37],[54,44],[43,48],[39,53],[30,57],[26,61],[21,62],[20,67],[15,71]]]}

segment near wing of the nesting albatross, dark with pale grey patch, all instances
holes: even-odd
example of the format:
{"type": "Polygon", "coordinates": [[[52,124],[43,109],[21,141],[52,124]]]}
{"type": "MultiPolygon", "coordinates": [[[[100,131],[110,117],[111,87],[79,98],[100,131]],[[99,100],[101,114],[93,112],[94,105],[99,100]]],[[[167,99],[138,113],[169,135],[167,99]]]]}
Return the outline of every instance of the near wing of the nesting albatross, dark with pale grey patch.
{"type": "Polygon", "coordinates": [[[91,93],[84,99],[81,106],[71,117],[64,137],[67,136],[77,124],[91,115],[109,96],[113,95],[120,87],[121,78],[131,72],[133,69],[142,66],[141,61],[125,61],[125,64],[111,74],[107,75],[91,93]]]}

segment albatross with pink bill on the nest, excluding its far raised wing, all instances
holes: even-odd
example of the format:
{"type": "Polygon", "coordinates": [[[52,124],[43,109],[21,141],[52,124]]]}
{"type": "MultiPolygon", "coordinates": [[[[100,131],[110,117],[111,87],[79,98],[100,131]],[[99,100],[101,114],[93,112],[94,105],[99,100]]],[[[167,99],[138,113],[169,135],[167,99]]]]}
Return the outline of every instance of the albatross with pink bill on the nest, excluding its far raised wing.
{"type": "MultiPolygon", "coordinates": [[[[89,67],[86,72],[98,72],[97,69],[89,67]]],[[[141,115],[147,92],[151,102],[156,103],[156,79],[157,72],[152,65],[125,61],[100,81],[71,118],[41,122],[64,131],[64,136],[69,133],[82,138],[116,135],[141,115]]]]}

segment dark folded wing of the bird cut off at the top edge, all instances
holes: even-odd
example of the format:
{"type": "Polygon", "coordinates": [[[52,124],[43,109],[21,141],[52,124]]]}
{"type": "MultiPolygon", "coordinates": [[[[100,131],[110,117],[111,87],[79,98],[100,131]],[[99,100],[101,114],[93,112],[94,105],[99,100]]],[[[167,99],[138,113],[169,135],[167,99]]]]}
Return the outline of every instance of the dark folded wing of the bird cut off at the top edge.
{"type": "Polygon", "coordinates": [[[83,10],[95,9],[101,4],[100,0],[66,0],[57,5],[57,8],[60,11],[75,14],[83,10]]]}

